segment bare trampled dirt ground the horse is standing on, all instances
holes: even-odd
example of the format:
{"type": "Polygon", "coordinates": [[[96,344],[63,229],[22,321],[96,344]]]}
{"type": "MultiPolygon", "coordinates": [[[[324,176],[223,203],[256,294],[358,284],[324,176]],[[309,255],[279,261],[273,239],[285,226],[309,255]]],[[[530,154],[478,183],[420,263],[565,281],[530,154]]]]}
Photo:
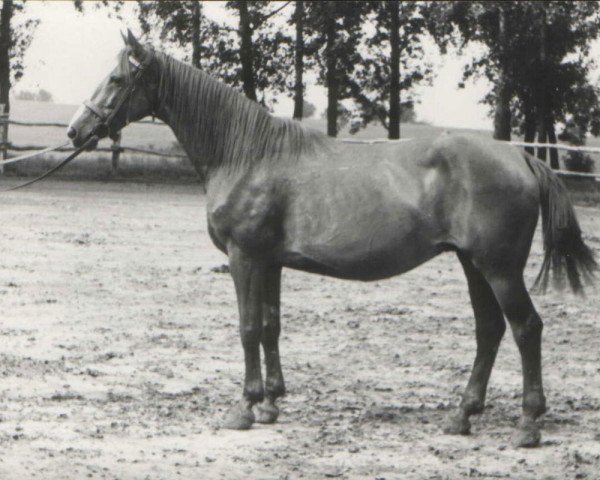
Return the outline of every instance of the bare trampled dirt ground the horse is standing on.
{"type": "MultiPolygon", "coordinates": [[[[473,434],[441,433],[475,349],[453,255],[375,283],[285,271],[280,421],[232,432],[237,310],[200,187],[48,182],[0,200],[0,479],[600,478],[598,290],[534,297],[549,413],[541,448],[515,450],[510,335],[473,434]]],[[[600,209],[577,211],[600,254],[600,209]]],[[[529,284],[540,259],[536,236],[529,284]]]]}

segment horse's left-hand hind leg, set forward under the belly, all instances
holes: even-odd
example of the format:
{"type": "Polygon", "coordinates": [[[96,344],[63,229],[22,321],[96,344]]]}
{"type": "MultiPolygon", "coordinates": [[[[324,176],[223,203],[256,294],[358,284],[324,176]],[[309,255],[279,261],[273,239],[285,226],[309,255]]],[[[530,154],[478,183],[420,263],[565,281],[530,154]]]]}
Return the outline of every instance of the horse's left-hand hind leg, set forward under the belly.
{"type": "Polygon", "coordinates": [[[448,418],[444,432],[465,435],[471,429],[469,416],[483,412],[488,380],[506,325],[500,305],[489,283],[473,266],[470,259],[461,253],[458,254],[458,258],[467,276],[475,314],[477,354],[458,411],[448,418]]]}

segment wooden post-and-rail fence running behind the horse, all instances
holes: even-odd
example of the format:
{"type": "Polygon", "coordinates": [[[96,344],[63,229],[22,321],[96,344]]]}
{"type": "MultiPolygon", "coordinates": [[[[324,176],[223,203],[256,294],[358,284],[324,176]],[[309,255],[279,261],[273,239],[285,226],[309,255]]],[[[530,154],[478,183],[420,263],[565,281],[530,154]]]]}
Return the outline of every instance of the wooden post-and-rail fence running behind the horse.
{"type": "MultiPolygon", "coordinates": [[[[163,122],[155,122],[149,120],[141,120],[139,122],[135,122],[139,124],[147,124],[154,126],[167,126],[163,122]]],[[[24,122],[19,120],[10,120],[8,113],[4,111],[4,104],[0,104],[0,152],[2,156],[2,160],[6,160],[8,158],[9,151],[35,151],[35,150],[43,150],[47,148],[47,146],[41,145],[14,145],[10,143],[8,140],[8,127],[9,125],[19,125],[24,127],[57,127],[57,128],[67,128],[68,124],[66,123],[58,123],[58,122],[24,122]]],[[[398,143],[398,142],[406,142],[411,140],[410,138],[402,138],[399,140],[388,140],[387,138],[376,138],[369,140],[360,140],[355,138],[341,138],[340,141],[344,143],[354,143],[354,144],[367,144],[373,145],[378,143],[398,143]]],[[[511,141],[508,142],[511,145],[515,145],[517,147],[532,147],[532,148],[555,148],[557,150],[566,150],[572,152],[585,152],[585,153],[595,153],[600,154],[600,148],[598,147],[580,147],[574,145],[564,145],[560,143],[526,143],[519,141],[511,141]]],[[[56,151],[58,152],[72,152],[75,149],[72,147],[63,147],[59,148],[56,151]]],[[[111,153],[111,165],[113,171],[116,171],[119,167],[119,158],[121,153],[123,152],[132,152],[132,153],[141,153],[144,155],[153,155],[157,157],[168,157],[168,158],[187,158],[186,155],[177,154],[177,153],[163,153],[157,152],[156,150],[149,150],[145,148],[137,148],[137,147],[128,147],[121,145],[121,135],[119,134],[118,138],[113,141],[110,147],[98,147],[95,149],[98,152],[110,152],[111,153]]],[[[2,167],[0,166],[0,173],[2,173],[2,167]]],[[[600,181],[600,173],[583,173],[583,172],[574,172],[571,170],[554,170],[559,175],[564,175],[568,177],[581,177],[581,178],[595,178],[597,181],[600,181]]]]}

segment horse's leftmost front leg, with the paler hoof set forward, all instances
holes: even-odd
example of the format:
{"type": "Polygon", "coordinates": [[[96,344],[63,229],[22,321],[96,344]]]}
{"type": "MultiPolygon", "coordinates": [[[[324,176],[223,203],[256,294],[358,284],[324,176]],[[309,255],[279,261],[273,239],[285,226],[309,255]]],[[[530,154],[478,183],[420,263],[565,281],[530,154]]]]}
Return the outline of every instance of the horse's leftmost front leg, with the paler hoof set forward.
{"type": "Polygon", "coordinates": [[[250,258],[239,248],[228,248],[229,270],[235,284],[240,314],[240,336],[244,348],[246,375],[242,400],[228,412],[224,427],[246,430],[255,417],[252,407],[263,400],[260,365],[262,336],[262,307],[266,269],[261,262],[250,258]]]}

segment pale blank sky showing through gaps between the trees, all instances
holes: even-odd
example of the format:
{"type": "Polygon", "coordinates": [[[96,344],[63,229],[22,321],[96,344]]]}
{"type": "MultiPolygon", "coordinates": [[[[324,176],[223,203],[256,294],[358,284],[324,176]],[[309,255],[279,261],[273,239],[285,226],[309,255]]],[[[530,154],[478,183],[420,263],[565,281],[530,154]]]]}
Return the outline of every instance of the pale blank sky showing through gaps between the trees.
{"type": "MultiPolygon", "coordinates": [[[[120,32],[130,28],[140,34],[140,28],[133,2],[126,5],[123,20],[109,18],[106,10],[95,9],[90,3],[84,4],[84,14],[76,12],[71,1],[26,3],[24,15],[39,19],[40,24],[25,56],[25,74],[15,90],[43,88],[52,93],[56,103],[65,104],[80,104],[92,94],[116,65],[116,55],[123,47],[120,32]]],[[[222,3],[205,2],[204,14],[214,20],[234,22],[222,3]]],[[[444,127],[491,129],[487,107],[479,103],[487,84],[479,81],[458,89],[468,55],[442,57],[429,45],[426,59],[433,63],[435,74],[432,85],[417,89],[418,120],[444,127]]],[[[323,87],[307,85],[306,98],[319,113],[325,108],[323,87]]],[[[292,110],[288,98],[280,98],[275,106],[275,114],[281,116],[291,116],[292,110]]]]}

